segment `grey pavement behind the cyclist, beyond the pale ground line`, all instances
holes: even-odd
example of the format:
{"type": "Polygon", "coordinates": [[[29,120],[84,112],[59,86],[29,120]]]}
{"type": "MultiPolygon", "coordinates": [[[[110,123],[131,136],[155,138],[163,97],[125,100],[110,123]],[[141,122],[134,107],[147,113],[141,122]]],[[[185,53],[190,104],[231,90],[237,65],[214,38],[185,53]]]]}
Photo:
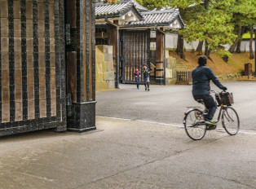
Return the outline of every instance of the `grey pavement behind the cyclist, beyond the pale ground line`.
{"type": "MultiPolygon", "coordinates": [[[[225,82],[224,85],[234,95],[233,108],[240,116],[241,130],[256,130],[256,82],[225,82]]],[[[216,86],[212,89],[218,90],[216,86]]],[[[137,90],[135,85],[121,85],[120,90],[96,94],[96,114],[182,125],[187,107],[200,106],[192,98],[191,90],[192,86],[151,86],[148,92],[143,86],[137,90]]]]}

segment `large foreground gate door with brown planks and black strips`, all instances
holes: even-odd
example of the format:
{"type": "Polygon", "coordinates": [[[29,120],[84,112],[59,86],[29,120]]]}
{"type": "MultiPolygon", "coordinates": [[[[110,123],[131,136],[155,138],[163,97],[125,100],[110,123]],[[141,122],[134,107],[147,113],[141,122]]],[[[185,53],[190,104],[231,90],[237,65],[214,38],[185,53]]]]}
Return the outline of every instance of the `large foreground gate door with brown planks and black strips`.
{"type": "Polygon", "coordinates": [[[64,0],[1,0],[0,38],[0,136],[66,130],[64,0]]]}

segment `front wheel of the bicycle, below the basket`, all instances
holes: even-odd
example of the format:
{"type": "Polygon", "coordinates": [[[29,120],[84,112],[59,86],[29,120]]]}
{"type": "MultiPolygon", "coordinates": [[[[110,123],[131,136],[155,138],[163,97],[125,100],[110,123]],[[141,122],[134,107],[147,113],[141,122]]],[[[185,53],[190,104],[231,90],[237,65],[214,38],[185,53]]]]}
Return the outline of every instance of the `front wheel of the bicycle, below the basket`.
{"type": "Polygon", "coordinates": [[[223,128],[227,131],[227,134],[237,134],[240,128],[240,120],[234,108],[227,107],[223,110],[222,122],[223,128]]]}

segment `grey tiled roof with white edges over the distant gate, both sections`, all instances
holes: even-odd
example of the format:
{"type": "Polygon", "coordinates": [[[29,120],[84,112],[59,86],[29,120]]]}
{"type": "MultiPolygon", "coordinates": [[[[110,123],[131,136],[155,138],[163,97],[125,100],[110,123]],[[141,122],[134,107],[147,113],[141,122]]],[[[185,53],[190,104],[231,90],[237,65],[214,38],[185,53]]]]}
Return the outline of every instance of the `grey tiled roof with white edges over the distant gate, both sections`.
{"type": "Polygon", "coordinates": [[[122,27],[148,27],[148,26],[166,26],[170,28],[183,28],[185,24],[176,9],[165,11],[148,11],[135,0],[121,0],[120,3],[96,3],[96,19],[120,18],[119,24],[122,27]],[[132,12],[137,19],[129,20],[124,17],[132,12]],[[127,19],[127,20],[126,20],[127,19]]]}

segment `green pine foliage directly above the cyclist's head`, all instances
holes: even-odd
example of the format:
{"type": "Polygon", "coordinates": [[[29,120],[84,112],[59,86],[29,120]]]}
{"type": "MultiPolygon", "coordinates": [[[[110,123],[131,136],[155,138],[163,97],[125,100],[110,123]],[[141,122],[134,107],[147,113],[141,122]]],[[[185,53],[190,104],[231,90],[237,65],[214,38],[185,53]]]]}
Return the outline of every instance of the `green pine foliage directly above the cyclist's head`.
{"type": "Polygon", "coordinates": [[[229,55],[223,51],[221,45],[231,44],[236,37],[233,33],[232,13],[227,11],[234,1],[173,0],[173,6],[179,7],[187,25],[179,34],[188,42],[199,40],[200,46],[205,42],[205,55],[208,57],[211,51],[221,51],[222,55],[229,55]]]}

